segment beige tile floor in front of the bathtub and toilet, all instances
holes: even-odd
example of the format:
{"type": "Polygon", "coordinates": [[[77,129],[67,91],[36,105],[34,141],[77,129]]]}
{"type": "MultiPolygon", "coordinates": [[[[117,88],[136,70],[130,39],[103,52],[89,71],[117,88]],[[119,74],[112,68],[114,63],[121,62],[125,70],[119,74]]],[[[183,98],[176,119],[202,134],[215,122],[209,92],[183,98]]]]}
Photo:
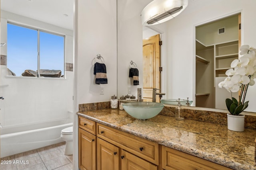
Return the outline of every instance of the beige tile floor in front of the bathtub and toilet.
{"type": "Polygon", "coordinates": [[[65,142],[1,158],[1,170],[72,170],[73,155],[64,155],[65,142]],[[15,164],[15,161],[18,162],[15,164]]]}

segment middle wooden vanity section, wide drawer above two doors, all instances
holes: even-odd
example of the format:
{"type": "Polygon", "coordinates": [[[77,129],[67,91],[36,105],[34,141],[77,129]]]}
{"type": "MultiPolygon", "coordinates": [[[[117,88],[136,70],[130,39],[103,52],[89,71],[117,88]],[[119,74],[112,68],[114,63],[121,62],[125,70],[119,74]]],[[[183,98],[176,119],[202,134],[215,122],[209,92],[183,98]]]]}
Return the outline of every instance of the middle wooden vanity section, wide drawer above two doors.
{"type": "Polygon", "coordinates": [[[96,126],[98,170],[158,169],[159,145],[157,143],[100,123],[96,126]]]}

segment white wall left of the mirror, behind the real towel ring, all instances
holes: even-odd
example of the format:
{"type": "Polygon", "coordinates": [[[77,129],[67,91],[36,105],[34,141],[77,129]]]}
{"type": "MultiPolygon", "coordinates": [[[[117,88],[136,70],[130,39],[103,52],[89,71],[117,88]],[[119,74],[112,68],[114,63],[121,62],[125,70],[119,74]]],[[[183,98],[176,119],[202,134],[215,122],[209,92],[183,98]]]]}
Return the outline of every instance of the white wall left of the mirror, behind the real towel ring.
{"type": "Polygon", "coordinates": [[[77,3],[77,103],[107,102],[117,95],[116,0],[77,3]],[[93,64],[97,54],[104,58],[108,84],[95,84],[93,64]],[[100,94],[101,86],[104,94],[100,94]]]}

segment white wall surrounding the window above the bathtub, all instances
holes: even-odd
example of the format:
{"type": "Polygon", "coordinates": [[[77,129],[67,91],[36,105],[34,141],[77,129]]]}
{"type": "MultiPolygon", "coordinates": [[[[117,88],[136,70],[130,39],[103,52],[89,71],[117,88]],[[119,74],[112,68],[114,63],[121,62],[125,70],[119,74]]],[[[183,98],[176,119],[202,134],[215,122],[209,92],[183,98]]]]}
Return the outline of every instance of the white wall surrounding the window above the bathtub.
{"type": "MultiPolygon", "coordinates": [[[[30,18],[1,11],[1,42],[7,42],[7,21],[39,27],[66,35],[66,62],[73,63],[73,31],[30,18]]],[[[1,55],[7,54],[8,44],[1,47],[1,55]]],[[[0,122],[2,126],[50,121],[72,117],[73,72],[66,71],[66,79],[10,77],[7,66],[0,66],[0,122]],[[7,85],[7,86],[3,86],[7,85]]]]}

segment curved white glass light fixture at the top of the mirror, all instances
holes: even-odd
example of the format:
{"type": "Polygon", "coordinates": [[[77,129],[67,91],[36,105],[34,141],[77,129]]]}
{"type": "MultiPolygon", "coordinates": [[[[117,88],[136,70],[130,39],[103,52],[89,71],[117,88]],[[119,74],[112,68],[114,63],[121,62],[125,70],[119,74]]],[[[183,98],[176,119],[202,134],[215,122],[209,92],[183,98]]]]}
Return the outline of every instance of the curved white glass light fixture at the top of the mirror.
{"type": "Polygon", "coordinates": [[[188,6],[188,0],[153,0],[142,10],[142,24],[155,25],[168,21],[188,6]]]}

